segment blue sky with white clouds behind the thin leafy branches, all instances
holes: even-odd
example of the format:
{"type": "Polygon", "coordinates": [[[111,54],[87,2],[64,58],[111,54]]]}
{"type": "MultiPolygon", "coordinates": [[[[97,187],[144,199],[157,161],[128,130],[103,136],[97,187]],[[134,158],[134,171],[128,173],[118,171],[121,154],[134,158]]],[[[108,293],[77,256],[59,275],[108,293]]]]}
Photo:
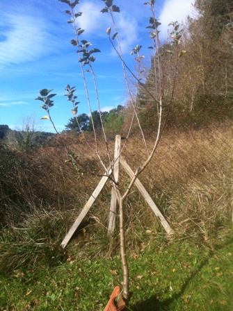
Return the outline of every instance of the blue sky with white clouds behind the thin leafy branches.
{"type": "MultiPolygon", "coordinates": [[[[145,26],[151,16],[145,0],[115,0],[120,14],[115,13],[124,60],[134,70],[134,56],[130,52],[136,45],[142,45],[142,52],[150,56],[150,38],[145,26]]],[[[171,21],[184,21],[192,13],[193,0],[157,0],[156,16],[162,23],[161,40],[168,37],[171,21]]],[[[77,19],[85,29],[81,39],[93,44],[101,53],[96,53],[93,63],[97,76],[97,87],[102,110],[110,110],[127,99],[122,67],[106,35],[111,25],[107,14],[99,12],[104,8],[101,0],[80,0],[77,11],[83,15],[77,19]]],[[[63,131],[72,117],[70,102],[67,101],[67,84],[77,87],[79,111],[88,113],[88,105],[81,78],[77,48],[72,47],[74,39],[72,24],[67,24],[68,7],[58,0],[1,0],[0,1],[0,124],[12,129],[20,128],[22,119],[32,117],[42,131],[53,131],[49,120],[40,118],[46,111],[35,101],[38,90],[54,89],[54,107],[51,117],[63,131]]],[[[145,58],[146,59],[146,58],[145,58]]],[[[149,58],[148,58],[149,59],[149,58]]],[[[149,63],[148,63],[149,65],[149,63]]],[[[92,109],[97,110],[95,92],[88,79],[92,109]]]]}

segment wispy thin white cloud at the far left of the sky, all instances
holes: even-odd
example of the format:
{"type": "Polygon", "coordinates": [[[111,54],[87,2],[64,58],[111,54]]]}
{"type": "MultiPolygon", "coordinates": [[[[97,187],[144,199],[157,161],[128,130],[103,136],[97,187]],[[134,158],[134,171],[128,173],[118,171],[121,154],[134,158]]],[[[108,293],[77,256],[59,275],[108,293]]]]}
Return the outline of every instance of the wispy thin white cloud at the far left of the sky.
{"type": "Polygon", "coordinates": [[[5,14],[1,26],[0,69],[8,64],[28,62],[54,50],[47,24],[34,16],[5,14]]]}

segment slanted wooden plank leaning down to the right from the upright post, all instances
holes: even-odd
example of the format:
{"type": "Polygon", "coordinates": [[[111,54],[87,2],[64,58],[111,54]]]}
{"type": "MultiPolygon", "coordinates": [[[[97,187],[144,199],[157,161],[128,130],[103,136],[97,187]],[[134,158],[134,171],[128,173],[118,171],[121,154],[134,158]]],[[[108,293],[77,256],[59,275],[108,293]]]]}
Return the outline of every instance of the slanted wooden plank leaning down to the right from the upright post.
{"type": "MultiPolygon", "coordinates": [[[[127,164],[127,162],[124,160],[122,156],[120,157],[120,164],[122,165],[124,170],[127,172],[127,174],[129,174],[129,176],[133,178],[134,171],[132,171],[132,169],[129,167],[129,165],[127,164]]],[[[150,205],[150,208],[152,208],[156,217],[158,217],[159,220],[161,221],[161,225],[166,230],[166,233],[168,234],[172,233],[172,228],[170,228],[168,221],[166,221],[166,219],[163,217],[163,214],[160,212],[159,208],[156,206],[156,204],[152,200],[150,194],[147,192],[147,190],[145,190],[145,187],[143,186],[142,183],[140,183],[140,180],[138,178],[136,178],[135,185],[140,191],[140,193],[143,195],[145,201],[147,201],[147,203],[150,205]]]]}

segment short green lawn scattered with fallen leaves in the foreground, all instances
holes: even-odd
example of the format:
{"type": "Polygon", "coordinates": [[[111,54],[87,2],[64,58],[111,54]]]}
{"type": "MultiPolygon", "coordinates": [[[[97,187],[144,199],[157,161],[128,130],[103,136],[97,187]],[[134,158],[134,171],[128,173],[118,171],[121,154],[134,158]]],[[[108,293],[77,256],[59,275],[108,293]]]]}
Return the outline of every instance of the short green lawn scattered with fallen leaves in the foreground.
{"type": "MultiPolygon", "coordinates": [[[[162,245],[129,254],[131,310],[233,310],[232,238],[214,250],[188,241],[162,245]]],[[[121,281],[118,256],[2,273],[0,310],[104,310],[121,281]]]]}

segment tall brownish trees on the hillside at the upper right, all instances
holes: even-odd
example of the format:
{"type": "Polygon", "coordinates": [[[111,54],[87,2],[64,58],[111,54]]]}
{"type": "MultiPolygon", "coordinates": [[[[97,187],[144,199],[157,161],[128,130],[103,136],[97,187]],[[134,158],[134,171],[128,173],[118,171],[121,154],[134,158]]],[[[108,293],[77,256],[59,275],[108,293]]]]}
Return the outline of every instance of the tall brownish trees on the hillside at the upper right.
{"type": "MultiPolygon", "coordinates": [[[[233,95],[232,57],[232,1],[197,0],[195,18],[188,17],[182,31],[182,61],[178,58],[178,69],[172,69],[175,62],[174,45],[164,44],[163,69],[165,104],[169,102],[172,81],[177,74],[174,104],[168,124],[174,126],[205,124],[216,119],[232,117],[230,106],[233,95]],[[171,119],[172,117],[172,119],[171,119]]],[[[171,36],[172,37],[172,34],[171,36]]],[[[155,90],[152,74],[154,63],[148,70],[145,86],[152,94],[155,90]]],[[[140,87],[138,112],[145,124],[153,125],[154,101],[150,94],[140,87]],[[147,111],[151,111],[147,115],[147,111]]]]}

